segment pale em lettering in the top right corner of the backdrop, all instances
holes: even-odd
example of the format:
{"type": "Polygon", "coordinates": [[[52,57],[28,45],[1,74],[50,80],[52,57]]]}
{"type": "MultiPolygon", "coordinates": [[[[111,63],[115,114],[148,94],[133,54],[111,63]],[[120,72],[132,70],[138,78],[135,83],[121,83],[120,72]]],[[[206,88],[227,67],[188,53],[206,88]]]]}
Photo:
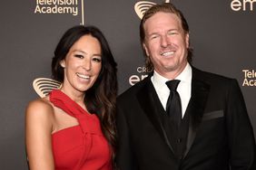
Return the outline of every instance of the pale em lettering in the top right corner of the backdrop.
{"type": "Polygon", "coordinates": [[[256,5],[256,0],[232,0],[231,9],[235,12],[253,11],[256,5]],[[255,3],[255,4],[254,4],[255,3]]]}

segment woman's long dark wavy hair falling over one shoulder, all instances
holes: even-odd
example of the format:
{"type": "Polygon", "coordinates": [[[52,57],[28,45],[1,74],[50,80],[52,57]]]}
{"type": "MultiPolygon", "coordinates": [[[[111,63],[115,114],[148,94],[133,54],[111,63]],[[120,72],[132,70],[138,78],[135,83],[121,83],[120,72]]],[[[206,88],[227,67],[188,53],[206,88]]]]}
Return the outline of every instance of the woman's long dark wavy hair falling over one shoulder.
{"type": "Polygon", "coordinates": [[[102,70],[94,85],[85,92],[84,104],[90,113],[95,113],[101,120],[103,134],[113,148],[113,159],[116,146],[116,96],[117,96],[117,64],[103,33],[94,26],[74,26],[67,30],[54,51],[52,61],[52,76],[54,80],[64,81],[64,68],[60,61],[64,60],[66,54],[82,36],[90,34],[96,38],[102,49],[102,70]]]}

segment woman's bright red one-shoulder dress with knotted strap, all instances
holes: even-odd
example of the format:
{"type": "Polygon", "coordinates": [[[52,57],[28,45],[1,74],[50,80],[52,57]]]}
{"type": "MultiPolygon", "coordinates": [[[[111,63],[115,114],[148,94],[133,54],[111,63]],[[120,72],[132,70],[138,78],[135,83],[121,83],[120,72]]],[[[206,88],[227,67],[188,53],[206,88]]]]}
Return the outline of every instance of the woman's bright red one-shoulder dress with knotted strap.
{"type": "Polygon", "coordinates": [[[79,125],[52,135],[55,170],[111,170],[111,148],[103,137],[100,120],[86,112],[61,90],[53,90],[50,101],[77,118],[79,125]]]}

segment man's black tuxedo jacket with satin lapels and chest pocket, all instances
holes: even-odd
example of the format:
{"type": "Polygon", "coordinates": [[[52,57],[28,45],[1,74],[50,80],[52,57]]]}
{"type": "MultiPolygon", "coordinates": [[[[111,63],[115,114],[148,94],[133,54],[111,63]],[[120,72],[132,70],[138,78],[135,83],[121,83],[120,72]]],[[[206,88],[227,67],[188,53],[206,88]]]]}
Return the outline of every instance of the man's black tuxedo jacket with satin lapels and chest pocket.
{"type": "Polygon", "coordinates": [[[175,158],[151,76],[117,99],[121,170],[238,170],[255,167],[255,139],[237,80],[192,68],[186,150],[175,158]]]}

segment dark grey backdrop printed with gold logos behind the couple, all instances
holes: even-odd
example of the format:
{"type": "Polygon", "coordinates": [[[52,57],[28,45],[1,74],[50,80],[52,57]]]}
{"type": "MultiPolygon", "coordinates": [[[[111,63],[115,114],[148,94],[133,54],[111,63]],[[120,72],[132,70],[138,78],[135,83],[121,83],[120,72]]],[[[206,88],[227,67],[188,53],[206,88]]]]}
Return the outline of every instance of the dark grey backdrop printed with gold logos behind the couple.
{"type": "MultiPolygon", "coordinates": [[[[54,48],[63,33],[93,24],[106,36],[118,63],[119,93],[143,80],[139,23],[143,11],[163,1],[23,0],[0,5],[0,169],[28,169],[25,107],[40,98],[33,87],[51,78],[54,48]]],[[[169,2],[169,1],[165,1],[169,2]]],[[[239,81],[256,132],[256,2],[173,0],[187,18],[193,65],[239,81]]]]}

